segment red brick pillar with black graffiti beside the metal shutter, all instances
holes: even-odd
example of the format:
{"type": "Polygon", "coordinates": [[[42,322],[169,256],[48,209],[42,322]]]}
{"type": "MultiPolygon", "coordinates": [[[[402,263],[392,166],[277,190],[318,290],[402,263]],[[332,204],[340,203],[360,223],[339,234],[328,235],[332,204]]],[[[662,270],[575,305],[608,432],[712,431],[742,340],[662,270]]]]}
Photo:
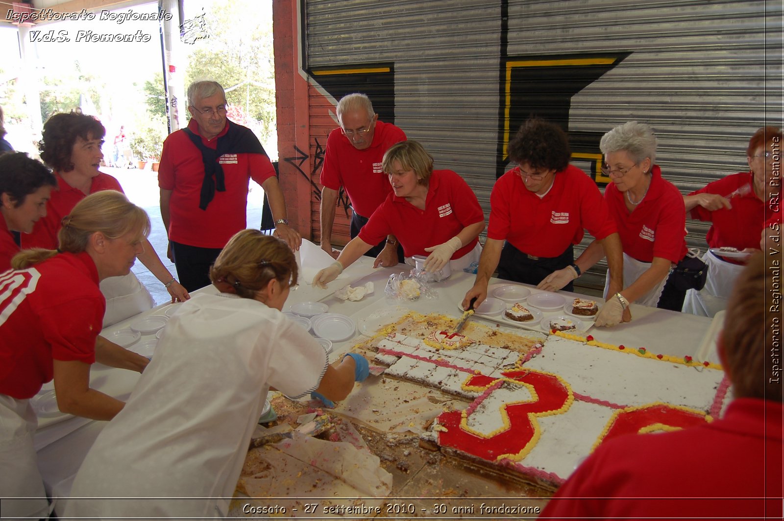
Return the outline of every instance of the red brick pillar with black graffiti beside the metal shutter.
{"type": "Polygon", "coordinates": [[[280,183],[289,223],[312,239],[307,81],[299,71],[298,0],[272,2],[280,183]],[[302,150],[302,152],[300,152],[302,150]]]}

